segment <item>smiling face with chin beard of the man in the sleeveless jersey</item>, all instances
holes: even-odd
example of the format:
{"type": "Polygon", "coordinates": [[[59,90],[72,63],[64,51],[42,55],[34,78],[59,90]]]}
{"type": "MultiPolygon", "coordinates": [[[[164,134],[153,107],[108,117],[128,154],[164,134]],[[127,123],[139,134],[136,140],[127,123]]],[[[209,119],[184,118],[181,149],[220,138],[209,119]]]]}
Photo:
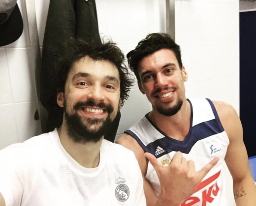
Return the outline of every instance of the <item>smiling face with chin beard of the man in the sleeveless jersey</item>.
{"type": "Polygon", "coordinates": [[[139,64],[139,77],[139,89],[146,94],[153,112],[171,116],[179,111],[186,100],[187,72],[179,67],[174,52],[161,49],[144,57],[139,64]]]}

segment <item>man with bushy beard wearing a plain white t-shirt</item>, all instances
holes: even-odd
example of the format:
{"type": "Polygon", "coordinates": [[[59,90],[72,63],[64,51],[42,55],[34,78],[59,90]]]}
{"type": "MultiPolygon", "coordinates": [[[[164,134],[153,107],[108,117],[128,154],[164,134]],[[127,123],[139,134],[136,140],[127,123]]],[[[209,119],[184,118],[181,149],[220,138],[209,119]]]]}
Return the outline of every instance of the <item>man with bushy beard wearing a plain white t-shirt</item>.
{"type": "Polygon", "coordinates": [[[0,151],[0,206],[146,205],[134,154],[103,139],[132,84],[124,54],[71,41],[58,68],[63,124],[0,151]]]}

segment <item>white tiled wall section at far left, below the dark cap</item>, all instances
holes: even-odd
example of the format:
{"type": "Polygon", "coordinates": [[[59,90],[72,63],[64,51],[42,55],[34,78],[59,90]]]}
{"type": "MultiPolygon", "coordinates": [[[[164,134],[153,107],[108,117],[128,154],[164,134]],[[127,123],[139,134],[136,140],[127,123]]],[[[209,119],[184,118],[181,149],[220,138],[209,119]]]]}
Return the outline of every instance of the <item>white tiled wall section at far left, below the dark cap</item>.
{"type": "Polygon", "coordinates": [[[41,133],[34,120],[37,96],[30,58],[25,0],[17,0],[24,29],[12,44],[0,47],[0,149],[41,133]]]}

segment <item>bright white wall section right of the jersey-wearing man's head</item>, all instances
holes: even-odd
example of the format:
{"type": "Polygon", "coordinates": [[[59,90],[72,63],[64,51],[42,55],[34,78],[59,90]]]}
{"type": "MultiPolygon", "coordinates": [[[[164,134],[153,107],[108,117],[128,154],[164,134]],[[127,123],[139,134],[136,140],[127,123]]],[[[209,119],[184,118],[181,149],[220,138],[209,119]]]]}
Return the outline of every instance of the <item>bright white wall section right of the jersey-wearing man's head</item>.
{"type": "Polygon", "coordinates": [[[175,2],[187,97],[224,101],[239,113],[239,1],[175,2]]]}

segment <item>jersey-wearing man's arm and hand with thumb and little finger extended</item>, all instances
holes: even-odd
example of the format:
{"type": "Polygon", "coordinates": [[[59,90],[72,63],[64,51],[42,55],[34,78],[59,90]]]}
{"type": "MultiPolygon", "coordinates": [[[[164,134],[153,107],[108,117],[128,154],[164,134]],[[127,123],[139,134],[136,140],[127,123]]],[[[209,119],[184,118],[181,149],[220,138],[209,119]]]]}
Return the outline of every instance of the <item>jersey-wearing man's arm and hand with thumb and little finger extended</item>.
{"type": "Polygon", "coordinates": [[[124,134],[116,143],[133,151],[138,160],[144,180],[147,206],[180,206],[192,195],[197,185],[219,160],[215,158],[201,170],[195,171],[194,162],[187,161],[182,157],[181,152],[177,152],[170,164],[164,167],[153,154],[144,153],[137,141],[130,135],[124,134]],[[159,197],[155,195],[151,183],[145,177],[148,167],[147,159],[156,170],[160,180],[161,193],[159,197]]]}

